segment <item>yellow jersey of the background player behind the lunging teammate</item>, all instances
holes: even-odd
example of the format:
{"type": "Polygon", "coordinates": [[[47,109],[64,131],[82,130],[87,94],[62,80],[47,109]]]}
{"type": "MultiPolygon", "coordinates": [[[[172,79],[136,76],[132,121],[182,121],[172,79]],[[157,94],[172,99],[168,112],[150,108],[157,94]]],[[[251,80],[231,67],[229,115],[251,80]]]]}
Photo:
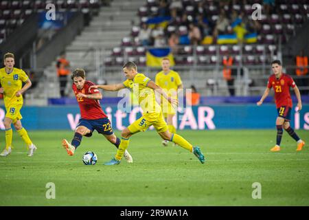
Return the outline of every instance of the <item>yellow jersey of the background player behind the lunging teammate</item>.
{"type": "Polygon", "coordinates": [[[155,83],[162,89],[165,89],[168,95],[172,95],[172,91],[177,91],[178,87],[183,84],[179,74],[174,70],[170,70],[166,75],[163,71],[157,73],[155,83]]]}

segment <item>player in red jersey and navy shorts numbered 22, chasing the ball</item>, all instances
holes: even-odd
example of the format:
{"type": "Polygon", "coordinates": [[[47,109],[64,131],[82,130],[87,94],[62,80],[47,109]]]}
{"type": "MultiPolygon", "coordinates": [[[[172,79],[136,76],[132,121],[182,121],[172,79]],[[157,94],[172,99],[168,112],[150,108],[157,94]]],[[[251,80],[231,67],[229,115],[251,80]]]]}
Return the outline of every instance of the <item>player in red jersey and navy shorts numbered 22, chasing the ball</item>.
{"type": "MultiPolygon", "coordinates": [[[[72,156],[76,148],[80,145],[82,136],[91,137],[93,131],[96,130],[118,148],[120,140],[113,133],[111,122],[100,106],[100,99],[102,99],[100,91],[98,89],[90,89],[89,91],[89,87],[94,84],[86,80],[84,69],[75,69],[71,79],[73,80],[72,89],[80,107],[81,118],[76,126],[71,144],[64,139],[62,140],[62,146],[72,156]]],[[[124,157],[127,162],[133,162],[128,151],[124,153],[124,157]]]]}

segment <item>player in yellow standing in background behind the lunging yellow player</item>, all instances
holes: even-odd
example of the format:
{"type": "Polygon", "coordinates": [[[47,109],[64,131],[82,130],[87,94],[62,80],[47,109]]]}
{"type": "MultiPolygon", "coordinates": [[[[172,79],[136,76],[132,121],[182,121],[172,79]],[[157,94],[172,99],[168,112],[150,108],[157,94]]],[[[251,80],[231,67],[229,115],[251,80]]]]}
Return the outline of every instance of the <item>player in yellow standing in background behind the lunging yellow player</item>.
{"type": "MultiPolygon", "coordinates": [[[[168,96],[177,99],[178,89],[183,89],[183,83],[181,77],[177,72],[170,69],[170,59],[163,58],[161,62],[162,71],[157,73],[155,83],[164,89],[168,96]]],[[[172,133],[176,133],[176,128],[173,124],[173,118],[176,114],[176,109],[172,107],[172,104],[168,100],[161,98],[161,108],[163,116],[168,124],[168,130],[172,133]]],[[[163,146],[168,146],[168,140],[163,140],[163,146]]]]}

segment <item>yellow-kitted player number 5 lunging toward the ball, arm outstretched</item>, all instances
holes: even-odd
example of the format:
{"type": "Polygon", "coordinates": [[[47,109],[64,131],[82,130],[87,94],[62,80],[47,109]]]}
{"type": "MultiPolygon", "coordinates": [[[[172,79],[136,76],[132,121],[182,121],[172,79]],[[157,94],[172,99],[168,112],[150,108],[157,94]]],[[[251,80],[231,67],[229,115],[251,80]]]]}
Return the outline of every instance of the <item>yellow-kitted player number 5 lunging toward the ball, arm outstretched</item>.
{"type": "Polygon", "coordinates": [[[128,147],[130,136],[138,133],[139,131],[146,131],[151,125],[155,127],[159,135],[163,140],[170,140],[178,144],[179,146],[187,149],[191,153],[194,153],[196,157],[200,160],[202,164],[205,162],[205,157],[198,146],[192,146],[187,140],[185,140],[181,135],[176,133],[170,133],[168,131],[168,125],[166,124],[160,105],[156,101],[155,91],[163,95],[164,98],[168,99],[171,104],[178,104],[178,101],[174,98],[168,97],[168,95],[155,84],[150,78],[146,77],[144,74],[139,74],[137,72],[137,66],[133,62],[128,62],[123,67],[124,75],[127,80],[124,83],[119,83],[115,85],[93,85],[90,87],[95,89],[104,89],[106,91],[118,91],[119,89],[130,88],[139,99],[139,106],[143,110],[143,115],[141,118],[130,124],[126,129],[122,131],[122,140],[120,142],[117,153],[110,162],[105,163],[105,165],[115,165],[119,164],[124,151],[128,147]]]}

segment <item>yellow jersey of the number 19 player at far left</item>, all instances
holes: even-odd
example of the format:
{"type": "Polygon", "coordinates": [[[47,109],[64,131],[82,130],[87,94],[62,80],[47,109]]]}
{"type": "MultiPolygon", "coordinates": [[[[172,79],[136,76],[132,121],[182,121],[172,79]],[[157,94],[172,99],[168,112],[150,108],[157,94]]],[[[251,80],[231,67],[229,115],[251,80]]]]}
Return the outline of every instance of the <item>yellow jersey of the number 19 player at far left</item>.
{"type": "Polygon", "coordinates": [[[16,97],[16,91],[21,90],[22,82],[28,80],[27,74],[23,69],[14,68],[10,74],[5,72],[5,68],[0,69],[0,83],[3,87],[3,100],[5,107],[11,104],[23,104],[23,96],[16,97]]]}

